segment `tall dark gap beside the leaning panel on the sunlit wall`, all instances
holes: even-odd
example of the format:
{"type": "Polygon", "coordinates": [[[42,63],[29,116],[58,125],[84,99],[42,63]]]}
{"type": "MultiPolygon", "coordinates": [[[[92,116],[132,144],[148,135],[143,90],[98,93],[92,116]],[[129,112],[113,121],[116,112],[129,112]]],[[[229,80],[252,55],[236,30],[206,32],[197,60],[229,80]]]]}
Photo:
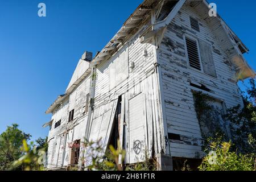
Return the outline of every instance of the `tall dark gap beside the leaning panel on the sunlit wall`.
{"type": "Polygon", "coordinates": [[[114,117],[114,127],[112,130],[112,135],[110,139],[110,145],[112,145],[115,149],[118,148],[118,139],[120,137],[120,129],[121,129],[121,106],[122,106],[122,97],[119,96],[117,111],[115,112],[114,117]]]}

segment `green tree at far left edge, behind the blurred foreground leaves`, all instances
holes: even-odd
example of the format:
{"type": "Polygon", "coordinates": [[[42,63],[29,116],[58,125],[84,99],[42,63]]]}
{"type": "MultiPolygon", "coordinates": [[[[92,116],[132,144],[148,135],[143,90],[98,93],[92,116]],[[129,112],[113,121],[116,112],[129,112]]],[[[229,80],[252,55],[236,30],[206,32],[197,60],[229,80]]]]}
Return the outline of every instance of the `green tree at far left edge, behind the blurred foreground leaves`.
{"type": "Polygon", "coordinates": [[[0,135],[0,170],[9,169],[13,162],[20,158],[23,154],[23,140],[29,140],[31,137],[30,134],[19,130],[18,126],[7,126],[6,131],[0,135]]]}

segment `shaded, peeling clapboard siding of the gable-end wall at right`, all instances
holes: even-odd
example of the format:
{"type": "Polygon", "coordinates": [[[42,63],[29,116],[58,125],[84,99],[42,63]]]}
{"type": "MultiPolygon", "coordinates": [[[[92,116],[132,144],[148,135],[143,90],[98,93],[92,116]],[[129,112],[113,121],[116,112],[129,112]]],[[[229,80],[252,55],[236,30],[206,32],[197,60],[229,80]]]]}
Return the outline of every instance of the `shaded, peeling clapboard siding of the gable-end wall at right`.
{"type": "Polygon", "coordinates": [[[201,156],[201,134],[191,90],[203,91],[225,102],[227,107],[242,104],[236,85],[236,75],[228,56],[210,27],[191,7],[184,6],[168,26],[158,49],[158,63],[162,72],[165,113],[168,133],[181,135],[183,141],[170,140],[171,155],[184,158],[201,156]],[[200,32],[192,30],[189,16],[199,19],[200,32]],[[212,45],[217,77],[209,76],[188,67],[184,34],[212,45]],[[203,84],[213,93],[190,86],[190,82],[203,84]]]}

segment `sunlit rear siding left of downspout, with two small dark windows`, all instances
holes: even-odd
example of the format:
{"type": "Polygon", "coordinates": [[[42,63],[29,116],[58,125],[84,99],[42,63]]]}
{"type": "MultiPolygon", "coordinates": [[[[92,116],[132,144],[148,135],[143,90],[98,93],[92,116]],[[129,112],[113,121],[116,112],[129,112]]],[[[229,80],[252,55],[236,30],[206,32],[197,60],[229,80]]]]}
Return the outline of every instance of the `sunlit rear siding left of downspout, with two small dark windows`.
{"type": "Polygon", "coordinates": [[[48,168],[67,166],[69,157],[68,143],[84,137],[85,123],[87,122],[87,115],[84,115],[84,106],[86,94],[89,93],[89,82],[90,76],[86,77],[59,109],[53,112],[52,128],[48,135],[48,168]],[[72,109],[75,109],[74,120],[68,123],[69,111],[72,109]],[[60,119],[61,125],[55,129],[55,122],[60,119]],[[60,141],[59,144],[58,141],[60,141]]]}

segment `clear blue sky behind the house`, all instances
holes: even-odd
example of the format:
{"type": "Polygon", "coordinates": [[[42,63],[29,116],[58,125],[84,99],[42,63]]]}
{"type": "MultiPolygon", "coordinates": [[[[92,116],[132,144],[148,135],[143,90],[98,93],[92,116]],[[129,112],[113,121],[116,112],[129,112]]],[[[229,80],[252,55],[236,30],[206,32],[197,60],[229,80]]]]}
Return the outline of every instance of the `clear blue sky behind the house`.
{"type": "MultiPolygon", "coordinates": [[[[48,135],[44,111],[64,93],[82,53],[100,51],[141,2],[0,0],[0,133],[18,123],[32,139],[48,135]]],[[[245,57],[256,69],[256,1],[209,2],[250,48],[245,57]]]]}

